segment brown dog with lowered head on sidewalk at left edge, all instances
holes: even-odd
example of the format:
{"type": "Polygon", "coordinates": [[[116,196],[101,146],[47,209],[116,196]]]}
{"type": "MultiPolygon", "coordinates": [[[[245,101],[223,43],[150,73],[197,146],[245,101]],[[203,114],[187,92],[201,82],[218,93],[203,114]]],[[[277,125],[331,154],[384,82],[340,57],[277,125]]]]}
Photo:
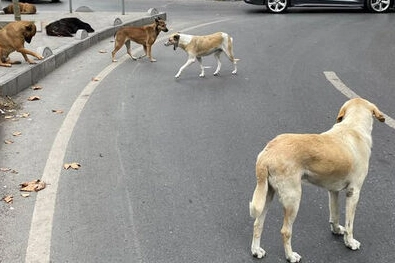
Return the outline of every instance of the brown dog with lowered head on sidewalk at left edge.
{"type": "Polygon", "coordinates": [[[37,59],[43,59],[39,54],[25,48],[25,41],[30,43],[36,34],[36,26],[30,21],[14,21],[0,30],[0,66],[11,67],[12,64],[20,64],[20,61],[11,61],[9,55],[18,51],[22,54],[26,62],[35,64],[27,55],[34,56],[37,59]]]}

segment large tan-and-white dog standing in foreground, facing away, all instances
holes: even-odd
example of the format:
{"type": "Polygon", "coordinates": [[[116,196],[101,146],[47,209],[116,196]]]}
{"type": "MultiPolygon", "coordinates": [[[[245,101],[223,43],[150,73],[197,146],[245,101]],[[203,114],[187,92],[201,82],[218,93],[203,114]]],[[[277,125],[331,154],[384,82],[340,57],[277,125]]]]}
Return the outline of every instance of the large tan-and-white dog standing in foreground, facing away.
{"type": "Polygon", "coordinates": [[[292,250],[292,224],[299,209],[301,181],[329,191],[329,223],[333,234],[343,235],[346,247],[357,250],[353,223],[363,181],[368,173],[372,147],[373,116],[384,122],[376,105],[362,98],[348,100],[340,108],[337,123],[321,134],[282,134],[270,141],[256,162],[257,185],[250,202],[255,218],[251,252],[262,258],[263,223],[275,193],[284,208],[281,228],[285,257],[299,262],[292,250]],[[338,196],[346,191],[345,226],[339,224],[338,196]]]}

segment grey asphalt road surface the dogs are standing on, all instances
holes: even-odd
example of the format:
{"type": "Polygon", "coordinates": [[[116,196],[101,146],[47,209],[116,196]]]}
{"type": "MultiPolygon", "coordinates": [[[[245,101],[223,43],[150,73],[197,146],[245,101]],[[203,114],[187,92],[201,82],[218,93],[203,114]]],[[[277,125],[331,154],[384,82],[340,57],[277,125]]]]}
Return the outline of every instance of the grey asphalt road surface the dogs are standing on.
{"type": "MultiPolygon", "coordinates": [[[[152,3],[136,1],[135,8],[152,3]]],[[[19,95],[21,112],[30,118],[1,124],[4,137],[16,130],[23,136],[1,146],[1,166],[19,173],[2,173],[2,182],[10,185],[0,193],[40,177],[64,129],[70,139],[61,144],[61,161],[79,162],[81,168],[60,171],[56,205],[52,214],[47,215],[50,207],[45,211],[53,216],[51,262],[285,262],[277,201],[262,240],[268,255],[262,260],[250,255],[248,202],[256,156],[279,133],[320,133],[334,124],[348,98],[324,72],[336,73],[353,92],[395,117],[394,14],[294,9],[270,15],[243,2],[155,3],[167,12],[172,32],[231,34],[241,59],[238,74],[231,74],[223,56],[220,76],[212,76],[215,62],[209,57],[203,59],[205,78],[194,64],[175,80],[186,55],[164,47],[165,34],[154,46],[158,62],[126,58],[114,65],[113,43],[105,40],[43,79],[42,90],[19,95]],[[25,102],[31,95],[42,99],[25,102]],[[79,98],[86,104],[73,117],[75,126],[65,125],[79,98]]],[[[303,262],[392,261],[394,135],[394,127],[375,123],[354,226],[359,251],[331,234],[327,193],[303,188],[293,236],[303,262]]],[[[27,257],[36,195],[14,194],[11,206],[0,206],[1,262],[27,257]]],[[[35,238],[41,242],[47,236],[35,238]]]]}

